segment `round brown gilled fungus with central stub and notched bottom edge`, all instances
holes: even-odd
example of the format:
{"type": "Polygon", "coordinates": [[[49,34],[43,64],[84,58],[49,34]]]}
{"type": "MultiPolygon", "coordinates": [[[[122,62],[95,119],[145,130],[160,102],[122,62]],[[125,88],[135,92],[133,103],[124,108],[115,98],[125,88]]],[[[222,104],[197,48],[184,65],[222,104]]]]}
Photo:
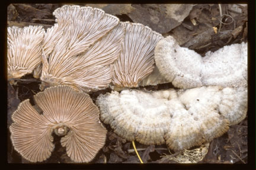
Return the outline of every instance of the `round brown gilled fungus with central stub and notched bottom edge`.
{"type": "Polygon", "coordinates": [[[89,95],[68,86],[55,86],[37,93],[34,99],[43,113],[27,99],[12,115],[14,149],[31,162],[44,161],[54,149],[52,133],[56,133],[63,136],[60,143],[72,161],[92,161],[105,144],[107,130],[89,95]]]}

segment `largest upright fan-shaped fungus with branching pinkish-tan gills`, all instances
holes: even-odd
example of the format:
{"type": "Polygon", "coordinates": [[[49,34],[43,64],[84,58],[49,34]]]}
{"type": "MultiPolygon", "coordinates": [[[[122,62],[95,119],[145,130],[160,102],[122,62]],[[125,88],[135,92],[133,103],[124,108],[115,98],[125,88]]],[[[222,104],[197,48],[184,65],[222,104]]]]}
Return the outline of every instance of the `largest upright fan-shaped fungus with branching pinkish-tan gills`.
{"type": "Polygon", "coordinates": [[[123,27],[117,17],[98,8],[64,5],[53,15],[56,24],[43,40],[40,89],[59,84],[77,91],[108,87],[111,64],[120,55],[123,27]]]}

